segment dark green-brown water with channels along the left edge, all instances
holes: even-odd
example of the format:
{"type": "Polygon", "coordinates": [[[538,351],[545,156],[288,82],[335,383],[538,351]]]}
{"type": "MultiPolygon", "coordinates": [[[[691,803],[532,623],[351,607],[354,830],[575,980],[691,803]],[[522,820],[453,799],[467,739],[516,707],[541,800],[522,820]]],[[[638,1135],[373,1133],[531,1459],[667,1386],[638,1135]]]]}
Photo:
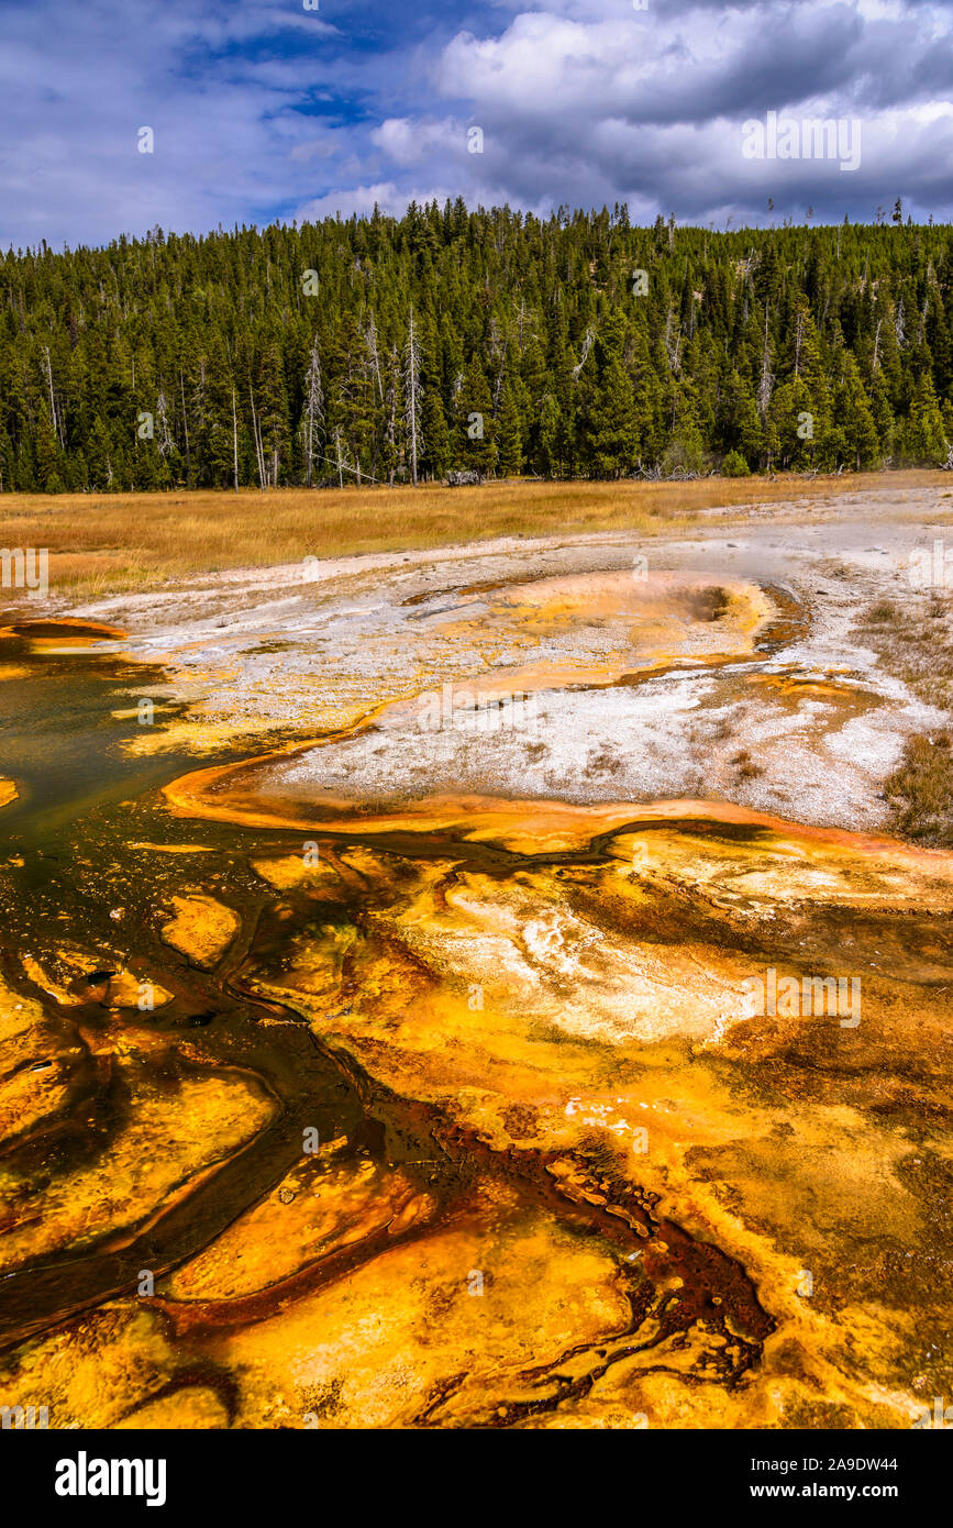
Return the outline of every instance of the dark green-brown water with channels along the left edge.
{"type": "MultiPolygon", "coordinates": [[[[276,1117],[255,1140],[162,1216],[124,1251],[86,1247],[0,1279],[0,1346],[43,1331],[70,1311],[98,1305],[136,1279],[141,1267],[168,1270],[206,1245],[301,1157],[302,1128],[322,1138],[357,1138],[367,1106],[357,1088],[299,1024],[263,1027],[269,1005],[235,979],[263,911],[273,900],[247,857],[269,834],[171,816],[159,787],[194,767],[192,755],[137,756],[124,744],[141,733],[141,697],[159,703],[162,669],[130,663],[115,645],[67,652],[34,651],[23,637],[0,645],[0,663],[24,668],[0,680],[0,775],[20,796],[0,808],[0,969],[8,984],[43,1005],[57,1041],[49,1065],[69,1079],[63,1118],[27,1140],[2,1143],[20,1193],[41,1192],[50,1175],[81,1169],[124,1128],[125,1100],[115,1070],[92,1065],[89,1036],[115,1027],[101,1002],[60,1004],[29,979],[24,957],[53,979],[69,979],[63,950],[79,949],[102,970],[127,967],[159,983],[173,1001],[154,1015],[130,1013],[168,1048],[142,1060],[156,1088],[174,1088],[188,1038],[206,1065],[240,1068],[275,1102],[276,1117]],[[118,718],[115,712],[133,712],[118,718]],[[194,843],[170,854],[141,845],[194,843]],[[232,906],[241,934],[214,973],[192,966],[159,937],[173,895],[205,889],[232,906]],[[87,1036],[82,1039],[81,1036],[87,1036]]],[[[156,712],[160,727],[179,711],[156,712]]],[[[218,762],[218,759],[209,759],[218,762]]],[[[221,759],[225,762],[225,759],[221,759]]],[[[278,837],[278,847],[283,840],[278,837]]],[[[295,840],[299,848],[299,840],[295,840]]],[[[289,845],[286,845],[287,853],[289,845]]],[[[418,1152],[420,1155],[420,1152],[418,1152]]],[[[104,1225],[104,1232],[108,1227],[104,1225]]]]}

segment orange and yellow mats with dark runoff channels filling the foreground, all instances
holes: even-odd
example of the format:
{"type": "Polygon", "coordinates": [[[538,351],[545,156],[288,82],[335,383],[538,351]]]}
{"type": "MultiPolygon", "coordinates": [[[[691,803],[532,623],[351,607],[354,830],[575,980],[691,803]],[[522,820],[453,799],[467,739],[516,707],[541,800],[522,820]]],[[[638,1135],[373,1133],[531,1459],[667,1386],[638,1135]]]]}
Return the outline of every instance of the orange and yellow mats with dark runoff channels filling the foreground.
{"type": "Polygon", "coordinates": [[[124,750],[160,669],[18,642],[5,1403],[823,1427],[944,1394],[953,857],[722,802],[276,810],[267,758],[124,750]],[[240,920],[205,966],[166,935],[202,895],[240,920]],[[767,970],[860,973],[861,1022],[747,1015],[767,970]]]}

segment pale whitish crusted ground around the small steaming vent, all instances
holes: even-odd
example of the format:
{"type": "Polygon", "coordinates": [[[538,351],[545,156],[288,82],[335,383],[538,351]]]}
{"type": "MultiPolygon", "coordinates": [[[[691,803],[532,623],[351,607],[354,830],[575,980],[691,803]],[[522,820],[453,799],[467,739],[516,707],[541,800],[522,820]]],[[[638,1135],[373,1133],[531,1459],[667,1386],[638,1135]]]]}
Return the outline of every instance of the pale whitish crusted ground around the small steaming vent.
{"type": "Polygon", "coordinates": [[[305,562],[73,614],[128,630],[127,651],[170,666],[189,703],[174,726],[142,729],[144,750],[373,721],[284,766],[276,792],[728,796],[861,828],[886,821],[880,787],[904,738],[944,718],[884,672],[858,617],[884,597],[924,605],[912,558],[948,533],[951,500],[884,489],[709,512],[651,539],[305,562]],[[712,619],[669,601],[666,616],[681,587],[728,590],[733,608],[712,619]],[[447,683],[452,724],[444,698],[434,724],[447,683]],[[467,717],[481,691],[535,703],[467,717]]]}

